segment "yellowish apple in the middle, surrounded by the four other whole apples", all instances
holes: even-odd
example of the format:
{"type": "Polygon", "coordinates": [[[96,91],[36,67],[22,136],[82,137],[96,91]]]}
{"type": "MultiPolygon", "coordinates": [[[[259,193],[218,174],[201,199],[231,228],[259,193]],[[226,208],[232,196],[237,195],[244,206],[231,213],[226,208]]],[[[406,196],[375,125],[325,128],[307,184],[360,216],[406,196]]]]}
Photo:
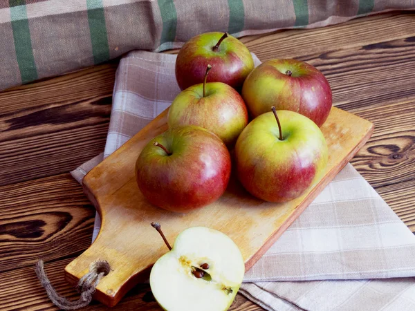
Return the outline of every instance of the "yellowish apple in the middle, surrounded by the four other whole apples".
{"type": "Polygon", "coordinates": [[[169,127],[198,125],[212,131],[232,146],[248,124],[248,111],[241,95],[221,82],[196,84],[182,91],[172,102],[169,127]]]}

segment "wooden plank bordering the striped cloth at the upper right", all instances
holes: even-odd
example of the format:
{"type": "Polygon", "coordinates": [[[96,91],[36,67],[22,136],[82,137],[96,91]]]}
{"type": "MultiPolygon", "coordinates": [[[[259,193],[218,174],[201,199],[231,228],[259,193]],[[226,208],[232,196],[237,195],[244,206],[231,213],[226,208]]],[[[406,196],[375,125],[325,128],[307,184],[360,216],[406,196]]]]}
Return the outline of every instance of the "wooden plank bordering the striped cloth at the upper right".
{"type": "Polygon", "coordinates": [[[241,41],[263,61],[273,57],[299,58],[413,37],[414,23],[414,14],[393,12],[323,28],[278,30],[271,34],[243,37],[241,41]]]}

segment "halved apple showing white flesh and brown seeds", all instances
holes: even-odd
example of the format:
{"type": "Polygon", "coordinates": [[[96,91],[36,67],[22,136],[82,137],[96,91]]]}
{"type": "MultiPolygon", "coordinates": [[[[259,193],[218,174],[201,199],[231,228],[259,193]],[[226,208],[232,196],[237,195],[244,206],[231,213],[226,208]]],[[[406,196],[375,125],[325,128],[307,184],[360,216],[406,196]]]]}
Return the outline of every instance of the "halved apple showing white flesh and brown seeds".
{"type": "Polygon", "coordinates": [[[152,267],[151,292],[164,310],[224,311],[232,304],[244,273],[241,252],[232,239],[214,229],[191,227],[152,267]],[[204,276],[196,277],[195,271],[200,270],[204,276]]]}

